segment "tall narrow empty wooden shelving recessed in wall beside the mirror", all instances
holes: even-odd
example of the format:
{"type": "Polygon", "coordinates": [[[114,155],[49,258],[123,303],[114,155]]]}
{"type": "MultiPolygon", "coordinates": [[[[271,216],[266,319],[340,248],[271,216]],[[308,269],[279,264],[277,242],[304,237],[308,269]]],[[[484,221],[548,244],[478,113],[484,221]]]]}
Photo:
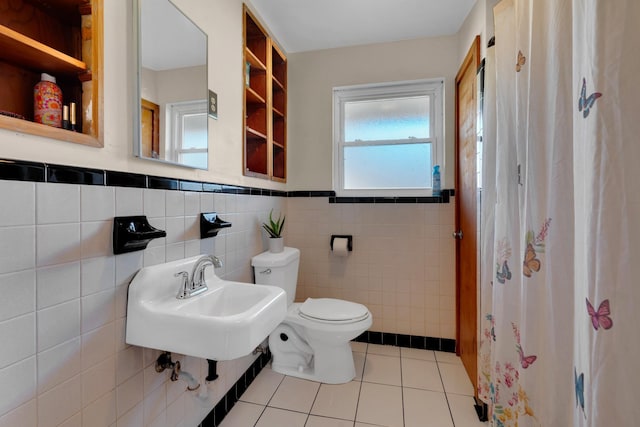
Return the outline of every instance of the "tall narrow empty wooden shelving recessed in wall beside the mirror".
{"type": "Polygon", "coordinates": [[[287,178],[287,58],[244,6],[244,174],[287,178]]]}

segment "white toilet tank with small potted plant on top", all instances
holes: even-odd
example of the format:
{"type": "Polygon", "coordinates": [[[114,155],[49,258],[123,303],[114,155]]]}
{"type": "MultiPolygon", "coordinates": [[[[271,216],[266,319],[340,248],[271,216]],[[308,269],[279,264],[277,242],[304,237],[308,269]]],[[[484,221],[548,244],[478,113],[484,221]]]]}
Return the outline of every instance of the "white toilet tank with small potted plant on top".
{"type": "Polygon", "coordinates": [[[300,250],[285,247],[282,252],[263,252],[251,258],[257,285],[271,285],[284,289],[287,305],[293,304],[298,285],[300,250]]]}

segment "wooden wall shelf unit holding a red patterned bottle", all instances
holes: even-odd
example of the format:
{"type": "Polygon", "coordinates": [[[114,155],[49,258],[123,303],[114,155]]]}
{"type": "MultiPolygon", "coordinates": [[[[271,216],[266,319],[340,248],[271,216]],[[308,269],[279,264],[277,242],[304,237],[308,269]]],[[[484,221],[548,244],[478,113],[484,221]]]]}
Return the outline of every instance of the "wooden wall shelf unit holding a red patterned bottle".
{"type": "Polygon", "coordinates": [[[103,0],[0,0],[0,128],[103,146],[103,0]],[[77,131],[33,122],[42,73],[56,77],[77,131]]]}

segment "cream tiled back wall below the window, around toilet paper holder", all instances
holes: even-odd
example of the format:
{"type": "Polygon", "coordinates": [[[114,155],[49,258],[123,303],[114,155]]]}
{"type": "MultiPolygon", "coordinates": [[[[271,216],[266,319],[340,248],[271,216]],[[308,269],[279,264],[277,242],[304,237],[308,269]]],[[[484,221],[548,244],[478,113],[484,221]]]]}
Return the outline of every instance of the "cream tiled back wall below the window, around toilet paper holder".
{"type": "Polygon", "coordinates": [[[448,204],[329,204],[290,198],[287,245],[300,248],[296,299],[365,304],[372,330],[455,338],[455,199],[448,204]],[[331,254],[332,234],[353,252],[331,254]]]}

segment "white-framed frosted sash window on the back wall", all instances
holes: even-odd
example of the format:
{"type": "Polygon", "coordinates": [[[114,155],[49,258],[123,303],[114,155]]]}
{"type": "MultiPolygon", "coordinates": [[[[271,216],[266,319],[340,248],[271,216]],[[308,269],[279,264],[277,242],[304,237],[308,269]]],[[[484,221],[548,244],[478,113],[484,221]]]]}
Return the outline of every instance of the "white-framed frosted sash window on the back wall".
{"type": "Polygon", "coordinates": [[[334,88],[337,195],[430,195],[443,158],[442,92],[442,80],[334,88]]]}

